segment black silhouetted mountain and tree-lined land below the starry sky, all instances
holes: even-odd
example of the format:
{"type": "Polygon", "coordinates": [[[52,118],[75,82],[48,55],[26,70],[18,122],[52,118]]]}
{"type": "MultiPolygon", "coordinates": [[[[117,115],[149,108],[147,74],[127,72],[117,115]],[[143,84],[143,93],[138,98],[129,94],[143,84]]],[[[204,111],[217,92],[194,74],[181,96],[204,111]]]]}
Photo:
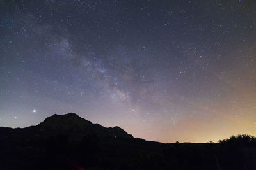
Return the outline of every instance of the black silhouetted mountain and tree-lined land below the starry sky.
{"type": "Polygon", "coordinates": [[[24,129],[0,127],[0,169],[256,169],[256,139],[164,144],[68,113],[24,129]]]}

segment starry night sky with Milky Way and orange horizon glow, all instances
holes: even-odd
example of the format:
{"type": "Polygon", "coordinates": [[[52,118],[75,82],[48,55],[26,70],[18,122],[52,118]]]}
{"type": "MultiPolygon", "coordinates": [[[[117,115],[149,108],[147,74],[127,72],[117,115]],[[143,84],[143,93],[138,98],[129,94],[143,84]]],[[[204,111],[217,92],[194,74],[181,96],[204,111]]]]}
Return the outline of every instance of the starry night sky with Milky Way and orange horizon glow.
{"type": "Polygon", "coordinates": [[[0,1],[0,126],[74,112],[134,137],[256,135],[256,1],[0,1]]]}

